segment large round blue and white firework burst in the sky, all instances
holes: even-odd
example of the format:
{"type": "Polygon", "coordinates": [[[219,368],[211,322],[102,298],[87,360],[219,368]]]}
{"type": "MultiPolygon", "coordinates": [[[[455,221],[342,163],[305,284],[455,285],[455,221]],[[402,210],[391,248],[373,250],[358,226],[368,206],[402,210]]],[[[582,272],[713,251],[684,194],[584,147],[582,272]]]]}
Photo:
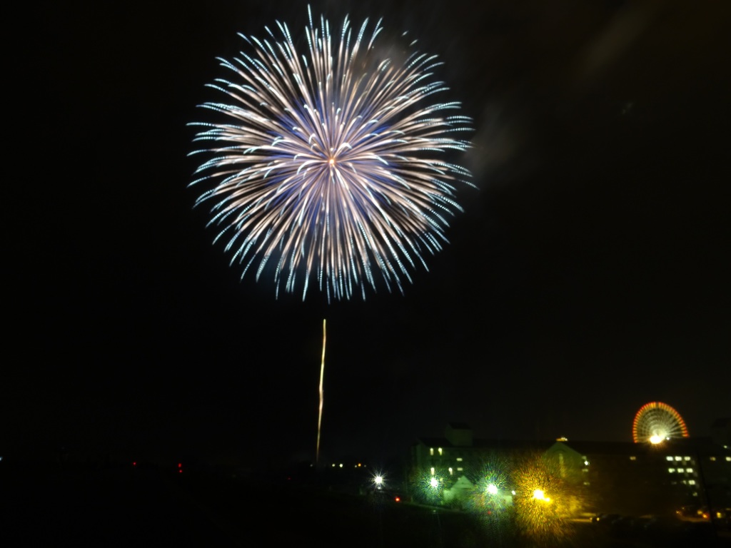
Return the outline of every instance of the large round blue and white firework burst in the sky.
{"type": "MultiPolygon", "coordinates": [[[[240,35],[249,53],[221,65],[232,72],[210,87],[225,102],[202,104],[224,121],[202,126],[194,153],[213,156],[193,185],[197,200],[215,202],[210,224],[221,227],[231,262],[273,272],[276,293],[311,282],[331,298],[366,298],[379,281],[402,281],[425,254],[447,241],[447,217],[461,210],[455,183],[469,172],[450,163],[471,120],[458,102],[433,102],[446,91],[431,80],[441,63],[412,50],[394,62],[376,45],[381,22],[355,34],[348,18],[338,37],[309,13],[307,45],[298,51],[289,28],[281,37],[240,35]]],[[[279,35],[278,34],[278,35],[279,35]]]]}

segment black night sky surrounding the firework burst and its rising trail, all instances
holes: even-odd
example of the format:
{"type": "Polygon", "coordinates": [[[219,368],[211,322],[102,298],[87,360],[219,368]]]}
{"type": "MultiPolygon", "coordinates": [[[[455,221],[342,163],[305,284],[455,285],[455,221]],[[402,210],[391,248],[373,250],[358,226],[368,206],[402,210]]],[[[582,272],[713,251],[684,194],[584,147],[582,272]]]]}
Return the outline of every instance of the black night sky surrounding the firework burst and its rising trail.
{"type": "Polygon", "coordinates": [[[10,452],[312,458],[325,317],[328,457],[450,420],[619,441],[652,400],[692,435],[731,415],[724,3],[312,2],[419,37],[476,129],[430,271],[333,305],[240,283],[186,188],[216,56],[306,2],[70,4],[7,53],[10,452]]]}

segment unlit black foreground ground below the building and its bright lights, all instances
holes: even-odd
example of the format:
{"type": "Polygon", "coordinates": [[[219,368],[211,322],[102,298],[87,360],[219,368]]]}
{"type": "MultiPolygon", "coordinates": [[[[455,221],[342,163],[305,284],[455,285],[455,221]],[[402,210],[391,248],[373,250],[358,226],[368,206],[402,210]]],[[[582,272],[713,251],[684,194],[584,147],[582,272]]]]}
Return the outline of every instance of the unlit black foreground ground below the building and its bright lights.
{"type": "MultiPolygon", "coordinates": [[[[10,547],[727,547],[711,527],[516,530],[466,512],[344,495],[327,486],[154,468],[4,467],[10,547]]],[[[703,524],[708,525],[710,524],[703,524]]]]}

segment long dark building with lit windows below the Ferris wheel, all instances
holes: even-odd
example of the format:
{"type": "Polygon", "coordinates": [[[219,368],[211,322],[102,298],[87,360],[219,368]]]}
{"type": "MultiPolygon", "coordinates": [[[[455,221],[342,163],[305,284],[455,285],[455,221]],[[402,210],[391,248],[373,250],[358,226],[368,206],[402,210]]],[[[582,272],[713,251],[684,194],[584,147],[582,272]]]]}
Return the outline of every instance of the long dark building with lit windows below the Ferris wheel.
{"type": "Polygon", "coordinates": [[[444,437],[417,439],[409,476],[414,495],[426,490],[441,503],[463,504],[491,489],[511,500],[540,492],[570,514],[731,507],[731,449],[713,438],[660,444],[484,440],[468,425],[450,423],[444,437]]]}

